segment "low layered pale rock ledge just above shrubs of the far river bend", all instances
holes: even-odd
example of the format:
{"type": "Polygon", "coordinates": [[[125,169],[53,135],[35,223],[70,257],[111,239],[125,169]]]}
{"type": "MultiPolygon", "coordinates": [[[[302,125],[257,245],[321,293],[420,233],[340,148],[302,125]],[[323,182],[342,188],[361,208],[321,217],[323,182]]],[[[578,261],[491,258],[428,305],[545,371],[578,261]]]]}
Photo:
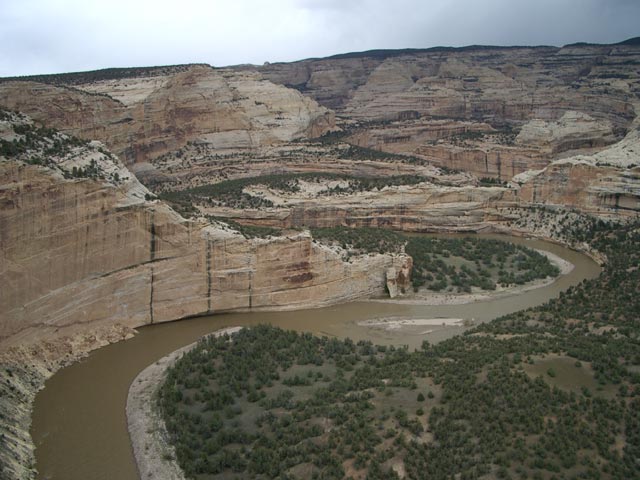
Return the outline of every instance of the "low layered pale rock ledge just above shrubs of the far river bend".
{"type": "Polygon", "coordinates": [[[273,208],[251,210],[200,207],[204,213],[250,225],[380,227],[413,232],[491,230],[500,221],[494,208],[515,202],[513,192],[498,187],[415,186],[306,198],[299,193],[258,192],[273,208]]]}

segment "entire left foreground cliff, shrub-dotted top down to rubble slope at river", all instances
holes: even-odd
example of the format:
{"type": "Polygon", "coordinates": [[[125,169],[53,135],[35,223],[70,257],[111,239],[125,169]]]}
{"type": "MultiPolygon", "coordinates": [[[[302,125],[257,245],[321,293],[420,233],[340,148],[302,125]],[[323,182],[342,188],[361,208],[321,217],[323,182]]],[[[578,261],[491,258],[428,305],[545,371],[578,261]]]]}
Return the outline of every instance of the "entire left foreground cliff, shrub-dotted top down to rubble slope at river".
{"type": "Polygon", "coordinates": [[[246,239],[185,220],[99,142],[0,117],[3,476],[31,478],[29,405],[44,380],[137,326],[408,286],[404,255],[344,261],[305,232],[246,239]]]}

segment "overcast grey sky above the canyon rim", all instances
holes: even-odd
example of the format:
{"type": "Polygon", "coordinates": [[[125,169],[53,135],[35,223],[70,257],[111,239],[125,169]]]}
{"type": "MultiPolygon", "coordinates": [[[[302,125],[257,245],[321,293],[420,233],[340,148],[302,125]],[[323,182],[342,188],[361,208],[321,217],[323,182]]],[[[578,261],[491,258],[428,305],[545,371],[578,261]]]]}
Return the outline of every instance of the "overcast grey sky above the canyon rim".
{"type": "Polygon", "coordinates": [[[0,77],[636,36],[640,0],[0,0],[0,77]]]}

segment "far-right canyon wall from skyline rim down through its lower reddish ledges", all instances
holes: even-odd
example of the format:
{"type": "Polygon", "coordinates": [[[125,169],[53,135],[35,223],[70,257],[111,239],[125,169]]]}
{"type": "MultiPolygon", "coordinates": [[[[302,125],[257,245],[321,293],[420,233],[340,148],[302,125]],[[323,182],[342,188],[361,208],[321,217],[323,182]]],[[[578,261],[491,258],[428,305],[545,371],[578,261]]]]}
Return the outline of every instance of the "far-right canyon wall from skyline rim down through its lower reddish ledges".
{"type": "Polygon", "coordinates": [[[256,69],[359,121],[358,145],[509,180],[622,138],[639,64],[640,46],[620,44],[372,51],[256,69]]]}

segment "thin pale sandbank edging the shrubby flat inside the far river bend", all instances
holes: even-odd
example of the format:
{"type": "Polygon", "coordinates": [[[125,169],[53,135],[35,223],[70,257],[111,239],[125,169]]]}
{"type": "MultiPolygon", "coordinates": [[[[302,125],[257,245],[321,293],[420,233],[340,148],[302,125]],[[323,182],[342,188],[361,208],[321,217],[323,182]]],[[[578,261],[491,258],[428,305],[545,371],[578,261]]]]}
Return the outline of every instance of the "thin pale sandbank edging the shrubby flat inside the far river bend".
{"type": "MultiPolygon", "coordinates": [[[[560,276],[567,275],[574,268],[575,265],[571,262],[566,261],[564,258],[559,257],[558,255],[547,252],[546,250],[536,250],[542,255],[546,256],[551,263],[556,265],[560,270],[560,276]]],[[[439,293],[439,292],[431,292],[428,290],[419,290],[415,293],[410,293],[405,297],[401,298],[378,298],[370,300],[372,302],[383,302],[383,303],[398,303],[405,305],[432,305],[432,306],[442,306],[442,305],[464,305],[467,303],[474,302],[482,302],[486,300],[493,300],[496,298],[506,297],[510,295],[519,295],[524,292],[528,292],[530,290],[535,290],[537,288],[546,287],[547,285],[551,285],[555,282],[559,277],[553,278],[543,278],[540,280],[536,280],[525,285],[516,285],[512,287],[496,287],[495,290],[481,290],[473,293],[439,293]]]]}

